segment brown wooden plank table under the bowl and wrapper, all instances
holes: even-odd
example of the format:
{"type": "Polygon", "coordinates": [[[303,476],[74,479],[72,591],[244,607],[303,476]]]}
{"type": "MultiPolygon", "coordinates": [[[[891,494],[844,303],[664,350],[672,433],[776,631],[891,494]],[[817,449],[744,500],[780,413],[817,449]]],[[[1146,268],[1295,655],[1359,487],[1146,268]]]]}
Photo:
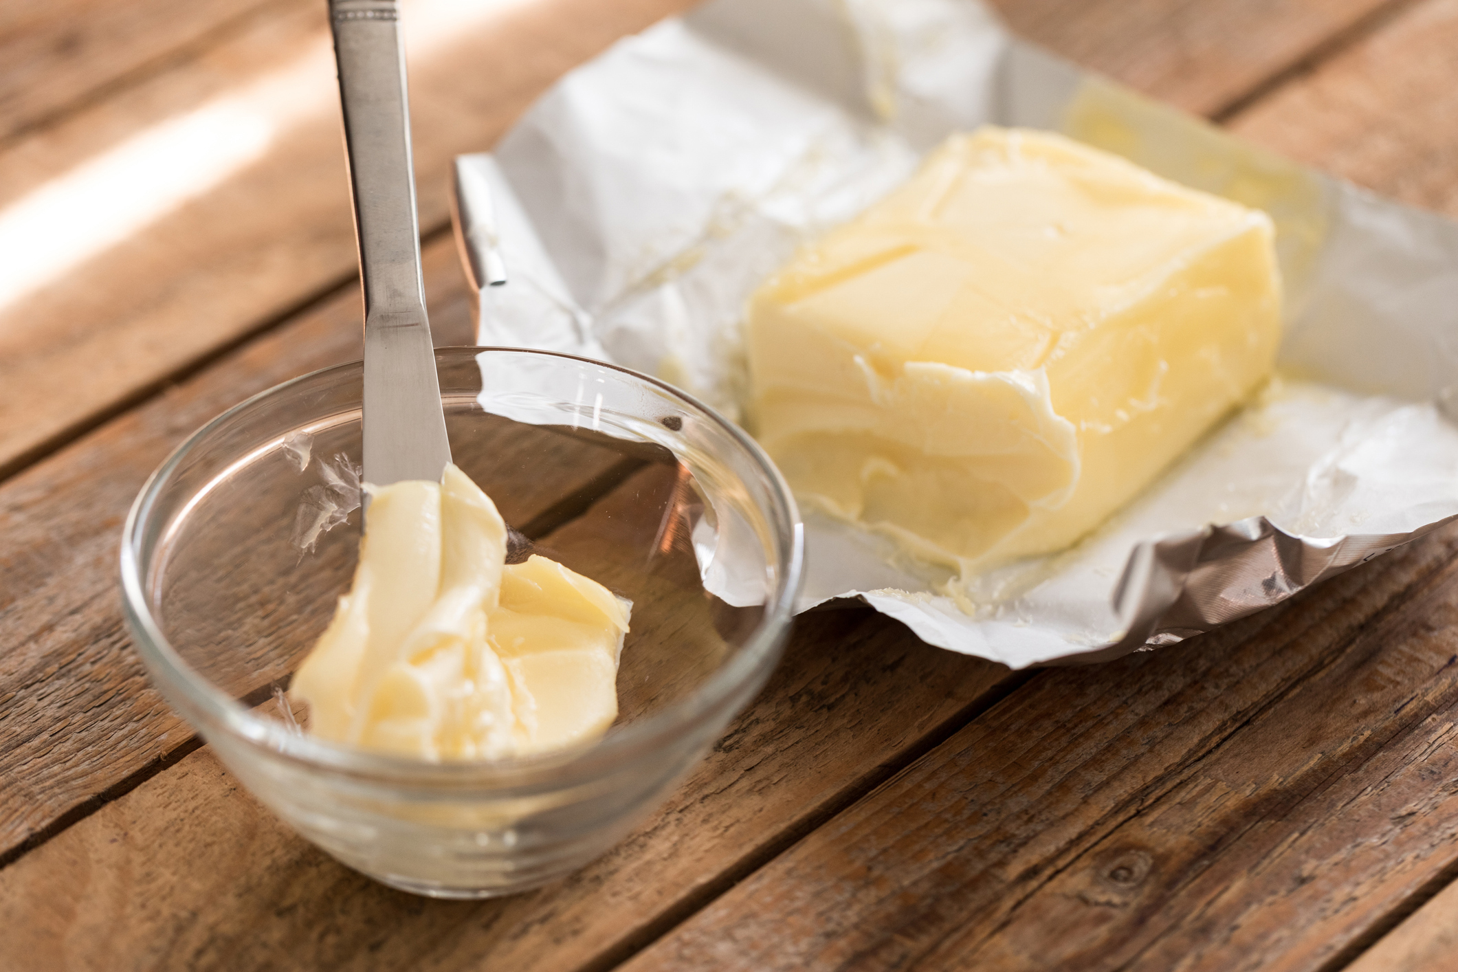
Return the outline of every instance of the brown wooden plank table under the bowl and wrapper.
{"type": "MultiPolygon", "coordinates": [[[[0,6],[0,229],[36,240],[0,252],[34,268],[0,294],[0,968],[1458,968],[1458,529],[1098,667],[1009,673],[870,612],[802,618],[659,812],[504,901],[388,890],[261,810],[147,683],[117,538],[187,433],[360,353],[322,6],[0,6]],[[174,172],[169,146],[203,154],[174,172]],[[117,178],[150,188],[90,207],[117,178]]],[[[442,344],[469,340],[451,156],[681,6],[483,3],[417,31],[442,344]]],[[[999,6],[1458,214],[1458,0],[999,6]]]]}

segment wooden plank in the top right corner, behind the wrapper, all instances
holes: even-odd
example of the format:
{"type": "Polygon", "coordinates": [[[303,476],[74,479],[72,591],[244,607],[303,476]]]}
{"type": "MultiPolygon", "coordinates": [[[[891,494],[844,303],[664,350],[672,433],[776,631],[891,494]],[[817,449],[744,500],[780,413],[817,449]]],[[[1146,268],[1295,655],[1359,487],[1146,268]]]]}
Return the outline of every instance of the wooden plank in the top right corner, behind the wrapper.
{"type": "Polygon", "coordinates": [[[1239,136],[1384,195],[1458,216],[1458,3],[1429,0],[1232,119],[1239,136]]]}

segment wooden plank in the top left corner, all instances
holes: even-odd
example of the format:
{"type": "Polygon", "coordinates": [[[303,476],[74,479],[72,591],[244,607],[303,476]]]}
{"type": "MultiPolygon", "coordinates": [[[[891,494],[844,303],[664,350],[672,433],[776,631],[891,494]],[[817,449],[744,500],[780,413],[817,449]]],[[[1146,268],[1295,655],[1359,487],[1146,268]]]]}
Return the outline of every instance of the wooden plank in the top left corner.
{"type": "Polygon", "coordinates": [[[0,144],[77,102],[165,70],[278,0],[10,0],[0,7],[0,144]]]}

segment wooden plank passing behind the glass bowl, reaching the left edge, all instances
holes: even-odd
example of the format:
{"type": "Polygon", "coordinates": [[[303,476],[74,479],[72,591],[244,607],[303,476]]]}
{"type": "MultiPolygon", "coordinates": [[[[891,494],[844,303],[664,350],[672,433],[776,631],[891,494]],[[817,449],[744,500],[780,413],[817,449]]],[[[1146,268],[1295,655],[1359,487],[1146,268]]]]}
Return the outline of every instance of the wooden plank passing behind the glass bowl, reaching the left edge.
{"type": "MultiPolygon", "coordinates": [[[[471,324],[453,243],[427,249],[442,341],[471,324]]],[[[185,746],[121,621],[117,542],[137,490],[187,434],[277,382],[359,357],[354,286],[0,485],[0,860],[185,746]]],[[[617,458],[590,458],[583,479],[617,458]]],[[[539,484],[525,522],[579,485],[539,484]]]]}

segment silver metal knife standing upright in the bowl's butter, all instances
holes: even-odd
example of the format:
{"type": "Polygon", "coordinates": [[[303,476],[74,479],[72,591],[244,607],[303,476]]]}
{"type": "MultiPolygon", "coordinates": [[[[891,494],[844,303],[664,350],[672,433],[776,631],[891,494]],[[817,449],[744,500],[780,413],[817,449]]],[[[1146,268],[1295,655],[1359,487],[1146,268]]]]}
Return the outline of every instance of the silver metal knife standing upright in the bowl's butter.
{"type": "Polygon", "coordinates": [[[426,318],[395,0],[330,0],[364,289],[364,482],[440,481],[451,462],[426,318]]]}

